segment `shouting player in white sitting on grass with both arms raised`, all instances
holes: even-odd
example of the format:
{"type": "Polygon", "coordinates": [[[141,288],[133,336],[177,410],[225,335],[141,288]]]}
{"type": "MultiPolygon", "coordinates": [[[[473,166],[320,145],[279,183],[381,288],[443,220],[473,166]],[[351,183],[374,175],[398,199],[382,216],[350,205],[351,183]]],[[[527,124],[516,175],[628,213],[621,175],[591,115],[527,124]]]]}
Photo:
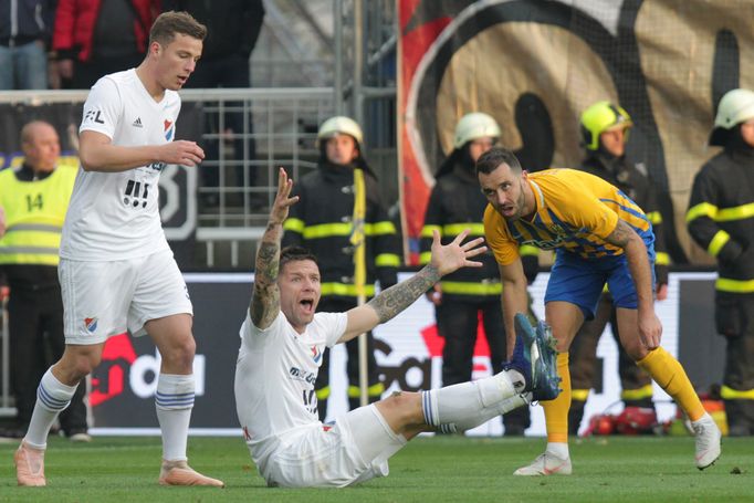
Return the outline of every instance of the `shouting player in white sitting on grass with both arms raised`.
{"type": "Polygon", "coordinates": [[[388,458],[422,431],[463,431],[537,399],[537,394],[557,395],[555,352],[541,331],[534,334],[524,322],[507,370],[430,391],[396,392],[332,426],[320,422],[314,381],[325,346],[392,318],[444,274],[480,266],[469,259],[486,248],[482,238],[463,243],[469,231],[443,247],[436,232],[429,265],[412,277],[347,313],[315,314],[321,294],[316,259],[302,248],[280,250],[283,222],[299,198],[290,197],[285,170],[279,176],[235,368],[239,420],[269,485],[345,486],[385,476],[388,458]]]}

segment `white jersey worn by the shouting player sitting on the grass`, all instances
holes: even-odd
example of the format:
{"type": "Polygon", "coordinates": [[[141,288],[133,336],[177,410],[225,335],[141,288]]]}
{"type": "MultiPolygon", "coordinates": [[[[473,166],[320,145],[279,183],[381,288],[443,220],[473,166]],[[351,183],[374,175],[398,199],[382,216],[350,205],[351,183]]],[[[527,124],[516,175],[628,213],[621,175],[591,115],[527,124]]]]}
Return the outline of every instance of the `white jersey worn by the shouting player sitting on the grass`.
{"type": "Polygon", "coordinates": [[[264,331],[247,319],[235,366],[235,407],[258,465],[285,433],[321,427],[314,392],[322,353],[346,331],[345,313],[316,313],[299,334],[281,312],[264,331]]]}

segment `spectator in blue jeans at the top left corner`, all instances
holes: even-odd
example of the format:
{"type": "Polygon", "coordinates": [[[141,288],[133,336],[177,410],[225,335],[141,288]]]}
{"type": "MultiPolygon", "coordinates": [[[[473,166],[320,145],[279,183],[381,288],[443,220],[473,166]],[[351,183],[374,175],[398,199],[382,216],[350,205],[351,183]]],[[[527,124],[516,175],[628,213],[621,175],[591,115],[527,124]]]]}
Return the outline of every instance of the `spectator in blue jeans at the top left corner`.
{"type": "Polygon", "coordinates": [[[54,3],[0,1],[0,91],[48,88],[54,3]]]}

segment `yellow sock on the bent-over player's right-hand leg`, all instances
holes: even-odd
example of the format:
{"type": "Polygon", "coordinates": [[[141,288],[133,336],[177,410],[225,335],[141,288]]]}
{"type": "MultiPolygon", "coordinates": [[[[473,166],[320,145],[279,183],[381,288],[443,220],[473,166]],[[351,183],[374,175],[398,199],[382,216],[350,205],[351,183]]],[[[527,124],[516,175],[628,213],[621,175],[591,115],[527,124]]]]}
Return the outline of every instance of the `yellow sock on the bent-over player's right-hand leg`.
{"type": "Polygon", "coordinates": [[[695,421],[704,416],[704,407],[691,386],[689,376],[670,353],[658,347],[636,364],[647,370],[652,379],[681,406],[689,419],[695,421]]]}

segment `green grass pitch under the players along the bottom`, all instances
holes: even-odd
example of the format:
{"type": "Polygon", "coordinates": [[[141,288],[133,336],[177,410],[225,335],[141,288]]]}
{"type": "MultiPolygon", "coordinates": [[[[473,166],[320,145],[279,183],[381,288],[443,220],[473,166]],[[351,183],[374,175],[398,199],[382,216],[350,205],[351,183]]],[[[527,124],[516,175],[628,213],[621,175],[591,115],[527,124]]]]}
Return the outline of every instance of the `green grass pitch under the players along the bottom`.
{"type": "Polygon", "coordinates": [[[97,437],[91,444],[50,440],[46,488],[18,488],[12,454],[0,444],[0,502],[752,502],[754,438],[726,438],[708,470],[693,464],[690,437],[572,440],[574,474],[521,478],[544,439],[427,437],[390,460],[390,475],[342,490],[268,489],[240,438],[193,437],[191,465],[223,490],[157,485],[160,441],[97,437]]]}

